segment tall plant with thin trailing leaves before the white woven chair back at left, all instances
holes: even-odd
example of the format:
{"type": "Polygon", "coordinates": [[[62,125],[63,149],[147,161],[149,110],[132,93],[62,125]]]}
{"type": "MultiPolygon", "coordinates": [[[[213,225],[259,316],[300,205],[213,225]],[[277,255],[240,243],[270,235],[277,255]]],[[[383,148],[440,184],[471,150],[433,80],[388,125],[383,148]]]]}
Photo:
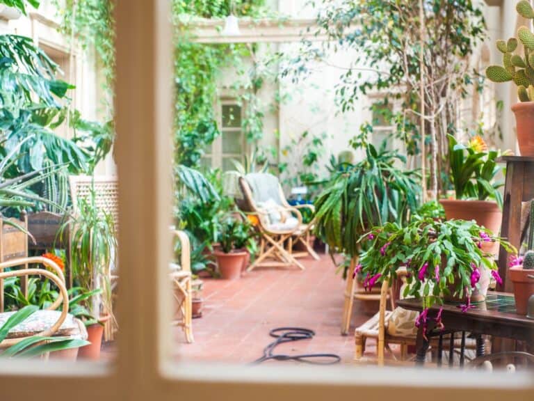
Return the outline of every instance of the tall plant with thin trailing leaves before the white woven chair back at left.
{"type": "MultiPolygon", "coordinates": [[[[67,230],[71,235],[71,261],[74,282],[85,289],[83,305],[90,316],[102,327],[113,316],[110,269],[116,262],[117,237],[113,216],[95,203],[95,191],[88,198],[79,198],[76,215],[63,224],[60,236],[67,230]],[[96,291],[102,289],[102,291],[96,291]]],[[[95,327],[96,335],[102,342],[102,331],[95,327]]],[[[95,340],[94,343],[97,341],[95,340]]],[[[96,347],[95,347],[96,348],[96,347]]],[[[99,347],[98,347],[99,354],[99,347]]],[[[98,359],[90,354],[90,359],[98,359]]]]}

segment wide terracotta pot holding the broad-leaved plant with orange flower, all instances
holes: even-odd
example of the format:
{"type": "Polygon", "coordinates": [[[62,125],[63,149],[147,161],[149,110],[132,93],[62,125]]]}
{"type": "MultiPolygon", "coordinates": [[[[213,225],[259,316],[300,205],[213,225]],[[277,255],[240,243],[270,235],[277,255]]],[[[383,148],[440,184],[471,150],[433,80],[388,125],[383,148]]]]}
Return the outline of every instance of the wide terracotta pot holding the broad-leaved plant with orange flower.
{"type": "Polygon", "coordinates": [[[495,235],[499,235],[503,212],[494,201],[464,201],[458,199],[441,199],[447,220],[474,220],[495,235]]]}

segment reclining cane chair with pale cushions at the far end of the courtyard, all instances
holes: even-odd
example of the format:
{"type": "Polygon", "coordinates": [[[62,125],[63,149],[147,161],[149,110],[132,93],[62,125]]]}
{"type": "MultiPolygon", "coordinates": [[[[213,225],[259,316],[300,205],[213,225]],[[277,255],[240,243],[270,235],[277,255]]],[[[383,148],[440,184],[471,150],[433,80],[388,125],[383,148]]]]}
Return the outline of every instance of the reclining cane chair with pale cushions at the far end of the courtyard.
{"type": "Polygon", "coordinates": [[[299,211],[303,207],[314,210],[312,205],[289,205],[280,182],[272,174],[247,174],[239,178],[239,186],[245,198],[244,211],[258,217],[261,235],[259,256],[248,268],[249,272],[260,266],[297,266],[304,270],[304,265],[296,260],[303,255],[312,255],[319,260],[309,244],[313,221],[302,223],[299,211]],[[293,254],[293,245],[296,243],[304,246],[305,253],[293,254]]]}

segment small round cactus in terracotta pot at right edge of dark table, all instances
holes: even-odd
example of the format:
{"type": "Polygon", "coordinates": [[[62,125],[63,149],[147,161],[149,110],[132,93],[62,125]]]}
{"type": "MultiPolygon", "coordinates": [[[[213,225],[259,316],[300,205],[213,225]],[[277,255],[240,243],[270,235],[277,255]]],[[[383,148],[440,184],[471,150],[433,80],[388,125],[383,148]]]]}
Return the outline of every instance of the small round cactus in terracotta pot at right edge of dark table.
{"type": "Polygon", "coordinates": [[[528,298],[534,294],[534,200],[531,201],[528,221],[527,251],[523,257],[512,257],[508,274],[514,283],[515,309],[519,315],[526,315],[528,298]]]}

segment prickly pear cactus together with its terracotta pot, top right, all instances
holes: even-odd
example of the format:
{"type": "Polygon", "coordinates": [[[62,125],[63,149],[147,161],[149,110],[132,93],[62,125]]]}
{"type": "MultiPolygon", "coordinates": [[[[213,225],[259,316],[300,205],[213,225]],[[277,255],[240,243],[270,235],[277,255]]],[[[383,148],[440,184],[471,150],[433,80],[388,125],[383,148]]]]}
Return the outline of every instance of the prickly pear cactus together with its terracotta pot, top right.
{"type": "MultiPolygon", "coordinates": [[[[526,19],[534,19],[530,1],[521,0],[517,13],[526,19]]],[[[494,82],[514,81],[517,85],[519,103],[512,106],[517,123],[517,142],[522,156],[534,156],[534,33],[526,26],[517,30],[517,38],[524,52],[516,52],[518,40],[497,40],[497,49],[503,53],[503,65],[490,65],[486,77],[494,82]]]]}

